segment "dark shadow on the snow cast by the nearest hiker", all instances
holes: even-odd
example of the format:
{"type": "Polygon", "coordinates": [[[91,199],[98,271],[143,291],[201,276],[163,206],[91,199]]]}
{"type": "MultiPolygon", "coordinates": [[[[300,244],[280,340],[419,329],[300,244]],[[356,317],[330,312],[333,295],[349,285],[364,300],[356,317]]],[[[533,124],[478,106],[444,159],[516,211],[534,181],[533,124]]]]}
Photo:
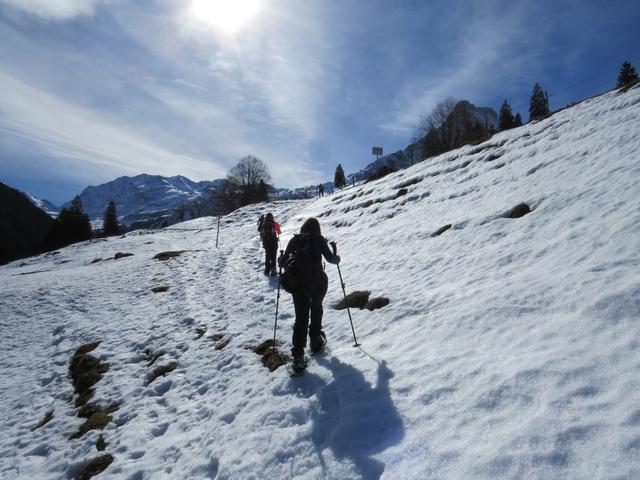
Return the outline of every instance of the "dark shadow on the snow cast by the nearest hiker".
{"type": "Polygon", "coordinates": [[[386,362],[378,362],[378,378],[372,386],[359,370],[335,357],[318,357],[317,363],[333,373],[333,381],[318,393],[321,412],[312,431],[318,452],[330,448],[336,458],[351,459],[363,479],[379,479],[384,464],[371,457],[404,437],[389,391],[393,372],[386,362]]]}

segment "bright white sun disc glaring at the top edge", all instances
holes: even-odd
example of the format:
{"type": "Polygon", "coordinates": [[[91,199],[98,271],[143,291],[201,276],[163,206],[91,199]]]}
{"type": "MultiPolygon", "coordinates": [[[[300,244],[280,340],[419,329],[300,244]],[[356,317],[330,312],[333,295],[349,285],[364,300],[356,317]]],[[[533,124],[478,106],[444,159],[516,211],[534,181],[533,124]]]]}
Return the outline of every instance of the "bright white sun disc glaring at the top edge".
{"type": "Polygon", "coordinates": [[[191,15],[198,21],[232,34],[260,10],[261,0],[192,0],[191,15]]]}

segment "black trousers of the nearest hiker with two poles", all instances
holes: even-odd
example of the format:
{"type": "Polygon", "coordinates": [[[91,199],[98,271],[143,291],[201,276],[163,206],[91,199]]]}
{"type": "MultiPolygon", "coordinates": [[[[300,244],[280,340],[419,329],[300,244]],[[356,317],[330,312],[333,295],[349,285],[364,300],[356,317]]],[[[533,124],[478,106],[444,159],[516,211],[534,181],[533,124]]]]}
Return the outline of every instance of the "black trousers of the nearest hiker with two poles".
{"type": "Polygon", "coordinates": [[[305,294],[293,295],[293,306],[296,312],[296,321],[293,324],[293,338],[291,355],[303,355],[307,346],[307,333],[309,337],[316,338],[322,331],[322,301],[327,294],[327,274],[322,273],[316,288],[311,297],[305,294]],[[311,324],[309,324],[311,319],[311,324]]]}

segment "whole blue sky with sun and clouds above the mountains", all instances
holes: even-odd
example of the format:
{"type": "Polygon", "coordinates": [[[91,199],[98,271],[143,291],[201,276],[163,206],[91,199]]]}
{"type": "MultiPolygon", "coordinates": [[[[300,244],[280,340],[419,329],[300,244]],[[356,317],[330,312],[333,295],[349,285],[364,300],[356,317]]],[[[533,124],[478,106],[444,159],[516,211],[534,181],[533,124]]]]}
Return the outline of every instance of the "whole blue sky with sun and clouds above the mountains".
{"type": "Polygon", "coordinates": [[[0,179],[69,200],[139,173],[277,186],[404,148],[447,96],[528,118],[640,67],[640,2],[0,0],[0,179]]]}

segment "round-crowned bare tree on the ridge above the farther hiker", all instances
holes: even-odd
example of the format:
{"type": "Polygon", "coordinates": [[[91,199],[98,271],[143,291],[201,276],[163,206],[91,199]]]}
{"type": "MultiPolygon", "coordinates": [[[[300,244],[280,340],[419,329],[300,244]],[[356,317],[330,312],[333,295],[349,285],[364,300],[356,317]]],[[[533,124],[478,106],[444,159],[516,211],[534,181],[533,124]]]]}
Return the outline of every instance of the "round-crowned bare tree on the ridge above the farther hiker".
{"type": "Polygon", "coordinates": [[[227,210],[234,210],[264,201],[266,185],[270,182],[271,174],[267,165],[259,158],[247,155],[227,173],[220,192],[223,205],[227,210]]]}

